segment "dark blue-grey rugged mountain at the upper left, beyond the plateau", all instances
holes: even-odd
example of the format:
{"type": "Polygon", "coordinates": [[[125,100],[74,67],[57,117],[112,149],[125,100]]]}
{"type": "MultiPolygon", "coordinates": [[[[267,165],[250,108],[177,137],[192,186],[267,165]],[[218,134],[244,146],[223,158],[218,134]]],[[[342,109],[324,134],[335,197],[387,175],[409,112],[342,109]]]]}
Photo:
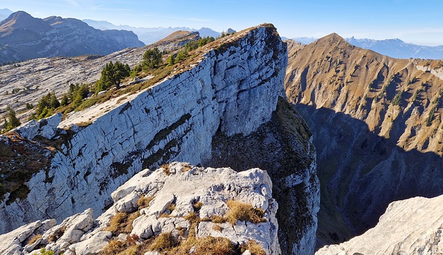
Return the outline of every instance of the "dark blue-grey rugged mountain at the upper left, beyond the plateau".
{"type": "Polygon", "coordinates": [[[37,19],[17,11],[0,22],[0,64],[46,56],[107,55],[141,46],[132,31],[101,31],[79,19],[37,19]]]}

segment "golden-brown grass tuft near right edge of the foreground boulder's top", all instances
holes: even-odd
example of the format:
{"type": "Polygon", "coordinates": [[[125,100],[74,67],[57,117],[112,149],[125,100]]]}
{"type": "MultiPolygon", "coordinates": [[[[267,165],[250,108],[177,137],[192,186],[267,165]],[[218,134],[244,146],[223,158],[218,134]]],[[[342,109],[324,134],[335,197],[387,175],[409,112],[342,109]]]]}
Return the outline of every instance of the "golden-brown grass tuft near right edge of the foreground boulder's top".
{"type": "Polygon", "coordinates": [[[244,204],[240,201],[227,201],[229,211],[226,215],[227,221],[234,226],[237,221],[249,221],[254,224],[266,222],[263,218],[264,211],[262,209],[255,209],[250,204],[244,204]]]}

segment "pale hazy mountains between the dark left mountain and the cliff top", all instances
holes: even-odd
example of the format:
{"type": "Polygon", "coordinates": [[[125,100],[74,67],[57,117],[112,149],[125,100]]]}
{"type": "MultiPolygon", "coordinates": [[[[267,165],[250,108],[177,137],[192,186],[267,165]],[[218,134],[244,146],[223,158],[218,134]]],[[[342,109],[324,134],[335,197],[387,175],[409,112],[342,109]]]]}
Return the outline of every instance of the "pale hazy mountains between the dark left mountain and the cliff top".
{"type": "MultiPolygon", "coordinates": [[[[93,26],[96,29],[106,30],[106,29],[124,29],[133,31],[137,36],[139,36],[139,39],[143,41],[145,44],[153,44],[156,41],[159,41],[163,39],[164,37],[168,36],[169,34],[174,33],[175,31],[198,31],[201,37],[205,36],[212,36],[216,38],[217,36],[220,36],[221,33],[214,31],[212,29],[208,29],[206,27],[202,27],[201,29],[189,29],[188,27],[153,27],[153,28],[147,28],[147,27],[134,27],[134,26],[124,26],[124,25],[114,25],[111,24],[108,21],[94,21],[91,19],[84,19],[84,22],[89,24],[89,26],[93,26]]],[[[232,29],[228,29],[227,32],[230,34],[232,29]]]]}

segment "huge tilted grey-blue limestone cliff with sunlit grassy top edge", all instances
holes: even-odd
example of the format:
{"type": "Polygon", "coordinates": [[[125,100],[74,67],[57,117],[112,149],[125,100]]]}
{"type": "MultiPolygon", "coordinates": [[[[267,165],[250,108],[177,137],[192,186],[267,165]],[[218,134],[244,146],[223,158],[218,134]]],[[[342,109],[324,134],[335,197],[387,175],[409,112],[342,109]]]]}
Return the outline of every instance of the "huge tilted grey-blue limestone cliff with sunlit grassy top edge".
{"type": "Polygon", "coordinates": [[[8,174],[23,174],[12,146],[21,146],[27,154],[31,144],[39,144],[49,160],[32,176],[22,176],[27,179],[16,192],[5,194],[2,231],[35,219],[64,219],[89,207],[100,214],[112,204],[111,191],[147,167],[173,160],[230,166],[232,154],[221,154],[223,161],[213,159],[216,137],[227,138],[222,142],[233,136],[267,136],[259,130],[268,126],[275,132],[269,134],[269,143],[279,151],[268,151],[258,141],[254,145],[265,158],[288,155],[287,167],[267,171],[277,184],[274,192],[285,192],[282,201],[299,201],[284,206],[277,216],[288,226],[297,226],[279,231],[282,254],[312,254],[319,204],[315,151],[304,121],[279,100],[284,94],[287,47],[277,29],[264,24],[226,36],[197,49],[180,65],[182,69],[147,90],[116,96],[63,121],[61,114],[55,115],[0,136],[0,149],[6,148],[14,159],[8,161],[9,169],[18,170],[8,174]],[[283,107],[280,114],[277,105],[283,107]],[[284,125],[282,115],[297,122],[284,125]],[[269,124],[273,118],[277,123],[269,124]]]}

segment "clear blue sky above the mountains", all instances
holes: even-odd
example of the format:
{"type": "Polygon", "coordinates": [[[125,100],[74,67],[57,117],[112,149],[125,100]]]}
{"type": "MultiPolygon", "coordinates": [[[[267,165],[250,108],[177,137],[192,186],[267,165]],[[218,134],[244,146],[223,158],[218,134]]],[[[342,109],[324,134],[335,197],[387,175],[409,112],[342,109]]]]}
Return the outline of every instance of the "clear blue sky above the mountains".
{"type": "Polygon", "coordinates": [[[209,27],[216,31],[272,23],[281,36],[392,39],[443,45],[442,0],[1,0],[0,9],[32,16],[105,20],[157,27],[209,27]]]}

